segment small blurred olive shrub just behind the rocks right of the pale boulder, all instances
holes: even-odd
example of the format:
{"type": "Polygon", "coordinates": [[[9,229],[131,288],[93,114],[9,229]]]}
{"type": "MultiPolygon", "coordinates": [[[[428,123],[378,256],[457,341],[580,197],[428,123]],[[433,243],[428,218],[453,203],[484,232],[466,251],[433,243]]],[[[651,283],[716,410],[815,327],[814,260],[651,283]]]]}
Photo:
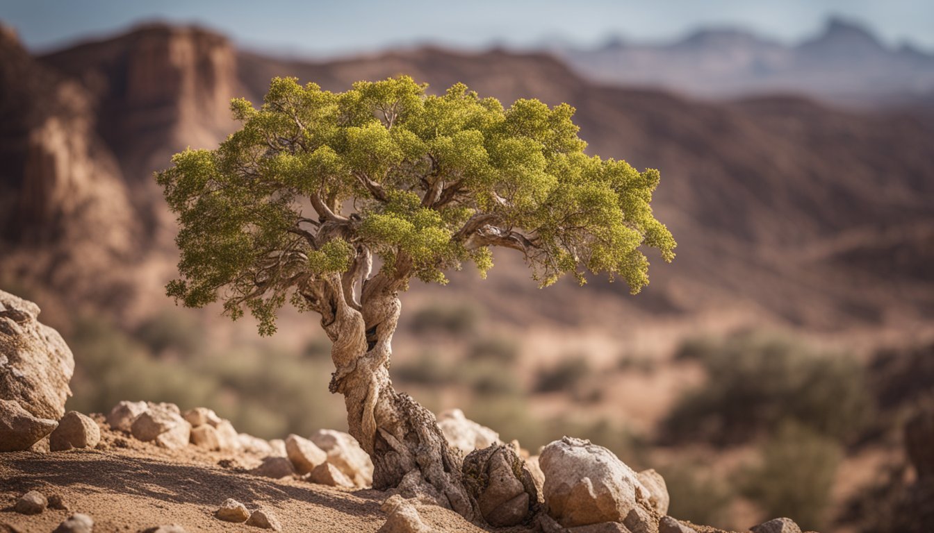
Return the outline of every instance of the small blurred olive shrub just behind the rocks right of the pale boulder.
{"type": "Polygon", "coordinates": [[[701,462],[685,461],[658,468],[665,478],[671,504],[668,514],[706,526],[730,527],[730,485],[701,462]]]}

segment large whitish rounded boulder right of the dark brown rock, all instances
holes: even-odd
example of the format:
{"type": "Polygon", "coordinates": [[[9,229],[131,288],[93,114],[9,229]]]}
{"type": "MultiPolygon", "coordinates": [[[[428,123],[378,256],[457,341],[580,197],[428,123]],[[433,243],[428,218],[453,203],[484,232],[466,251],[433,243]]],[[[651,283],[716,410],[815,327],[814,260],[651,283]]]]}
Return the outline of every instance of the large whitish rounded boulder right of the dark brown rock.
{"type": "Polygon", "coordinates": [[[640,506],[639,499],[649,505],[649,491],[636,472],[589,441],[564,437],[551,442],[542,450],[539,465],[545,474],[547,512],[561,526],[624,522],[640,506]]]}

